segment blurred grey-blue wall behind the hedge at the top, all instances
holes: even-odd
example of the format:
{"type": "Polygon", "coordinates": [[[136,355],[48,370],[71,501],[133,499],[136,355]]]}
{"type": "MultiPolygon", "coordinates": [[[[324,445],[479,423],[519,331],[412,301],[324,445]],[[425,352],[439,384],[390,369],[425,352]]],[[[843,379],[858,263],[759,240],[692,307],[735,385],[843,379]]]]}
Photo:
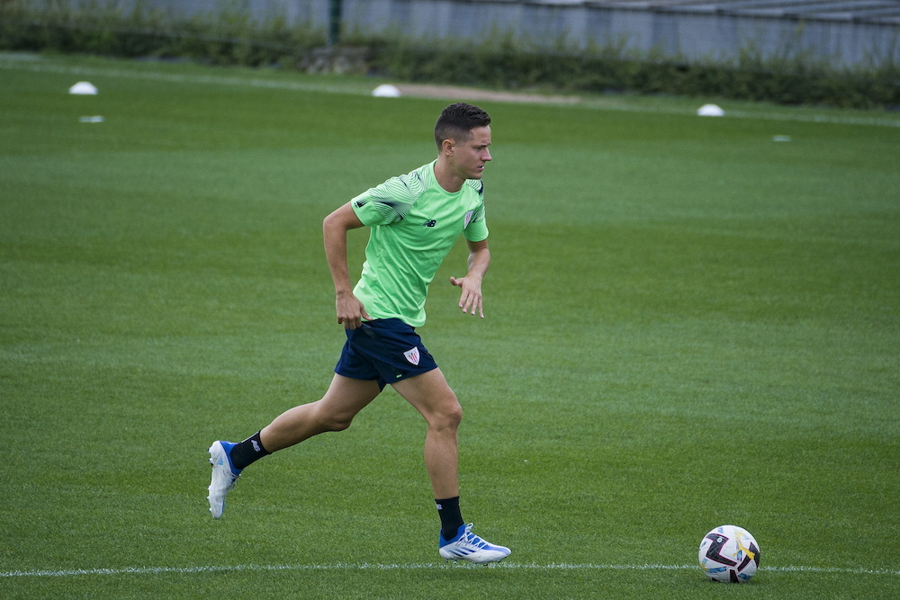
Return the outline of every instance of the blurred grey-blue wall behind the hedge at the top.
{"type": "MultiPolygon", "coordinates": [[[[662,57],[728,60],[805,52],[834,66],[900,60],[900,0],[122,0],[191,16],[223,5],[345,33],[440,40],[512,33],[553,47],[615,44],[662,57]]],[[[333,37],[332,41],[337,38],[333,37]]]]}

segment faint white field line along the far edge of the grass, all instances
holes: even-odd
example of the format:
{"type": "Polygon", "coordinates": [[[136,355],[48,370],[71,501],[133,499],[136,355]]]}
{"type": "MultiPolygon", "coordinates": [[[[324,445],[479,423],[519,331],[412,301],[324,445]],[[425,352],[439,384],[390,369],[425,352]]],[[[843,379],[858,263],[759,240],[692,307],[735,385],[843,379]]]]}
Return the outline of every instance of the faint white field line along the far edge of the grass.
{"type": "MultiPolygon", "coordinates": [[[[322,85],[322,84],[304,84],[292,81],[274,81],[269,79],[260,79],[256,77],[231,77],[231,76],[197,76],[197,75],[178,75],[174,73],[162,73],[159,71],[129,70],[123,68],[103,68],[103,67],[69,67],[66,65],[58,65],[43,62],[40,58],[34,60],[26,60],[22,58],[4,57],[0,54],[0,69],[25,70],[31,72],[44,73],[60,73],[72,76],[108,76],[123,77],[128,79],[143,79],[148,81],[165,81],[169,83],[191,84],[191,85],[230,85],[237,87],[260,87],[271,89],[294,90],[299,92],[323,92],[329,94],[354,94],[368,95],[368,91],[354,90],[338,85],[322,85]]],[[[410,94],[415,96],[415,92],[410,94]]],[[[523,96],[527,98],[527,96],[523,96]]],[[[606,103],[603,101],[588,100],[583,103],[570,103],[569,105],[592,107],[605,111],[617,112],[649,112],[649,113],[669,113],[688,115],[693,111],[683,109],[635,106],[629,103],[606,103]]],[[[797,114],[794,112],[776,112],[770,111],[765,113],[753,113],[742,111],[726,112],[725,118],[735,119],[757,119],[768,121],[802,121],[813,123],[830,123],[840,125],[869,125],[876,127],[900,127],[900,120],[896,119],[878,119],[876,117],[854,117],[854,116],[836,116],[836,115],[816,115],[816,114],[797,114]]]]}

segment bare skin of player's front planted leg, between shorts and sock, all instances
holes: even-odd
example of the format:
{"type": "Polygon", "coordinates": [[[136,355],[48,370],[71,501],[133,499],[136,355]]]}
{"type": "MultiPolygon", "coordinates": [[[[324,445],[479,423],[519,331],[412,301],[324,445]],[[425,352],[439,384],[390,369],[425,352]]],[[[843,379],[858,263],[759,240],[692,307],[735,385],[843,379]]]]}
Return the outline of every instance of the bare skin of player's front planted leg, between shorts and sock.
{"type": "MultiPolygon", "coordinates": [[[[394,390],[428,422],[425,467],[435,498],[459,496],[459,451],[456,432],[463,420],[456,394],[440,369],[393,384],[394,390]]],[[[265,443],[264,443],[265,445],[265,443]]]]}

